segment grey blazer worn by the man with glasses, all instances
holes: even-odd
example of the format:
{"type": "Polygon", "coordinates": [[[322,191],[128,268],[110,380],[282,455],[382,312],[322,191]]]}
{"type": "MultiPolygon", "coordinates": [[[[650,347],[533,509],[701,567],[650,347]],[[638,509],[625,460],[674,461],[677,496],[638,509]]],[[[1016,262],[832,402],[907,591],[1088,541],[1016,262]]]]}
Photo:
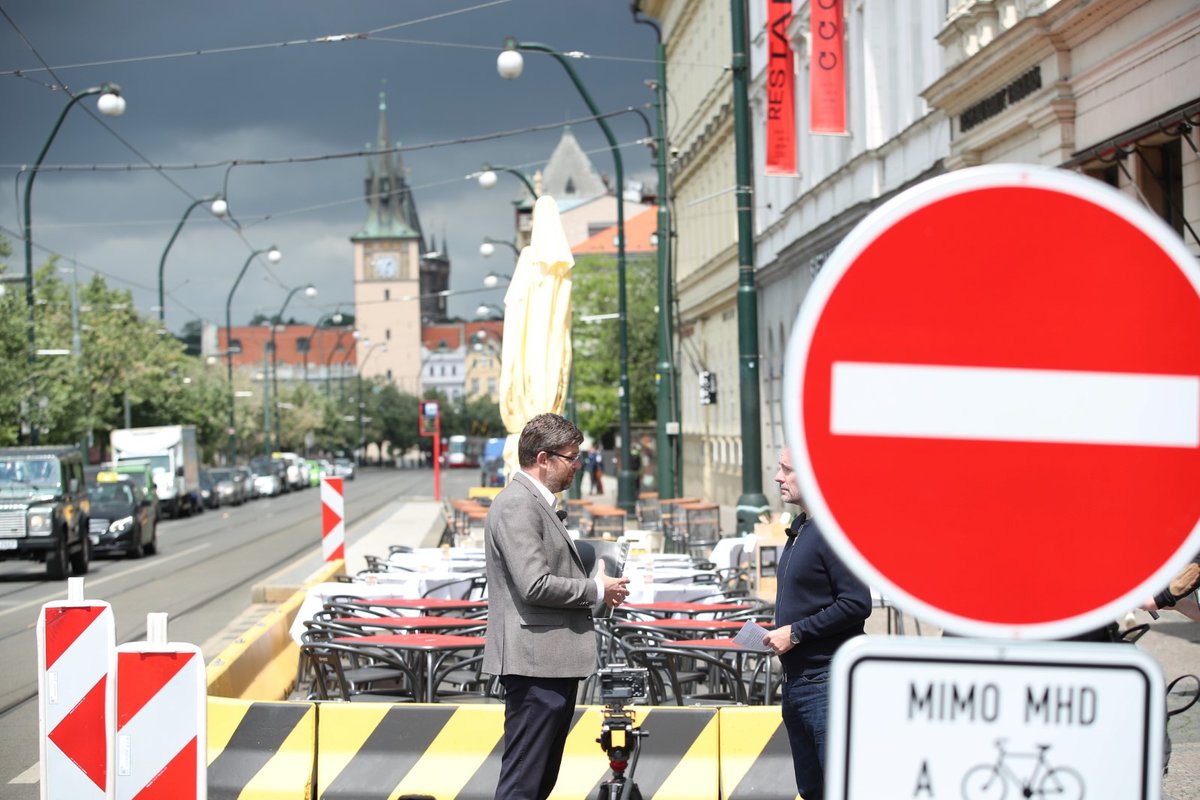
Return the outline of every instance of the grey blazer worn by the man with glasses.
{"type": "Polygon", "coordinates": [[[538,487],[522,473],[484,521],[487,644],[484,672],[586,678],[595,669],[595,581],[538,487]]]}

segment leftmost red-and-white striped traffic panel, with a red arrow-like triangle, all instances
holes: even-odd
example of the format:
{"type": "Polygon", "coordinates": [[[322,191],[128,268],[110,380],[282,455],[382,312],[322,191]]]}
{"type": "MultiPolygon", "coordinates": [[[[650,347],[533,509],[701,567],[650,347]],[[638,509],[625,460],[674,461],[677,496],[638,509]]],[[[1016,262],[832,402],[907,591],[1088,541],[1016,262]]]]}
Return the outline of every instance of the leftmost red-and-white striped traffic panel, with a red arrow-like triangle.
{"type": "Polygon", "coordinates": [[[112,758],[115,644],[113,609],[83,599],[83,578],[67,599],[37,615],[37,722],[42,800],[103,800],[112,758]]]}

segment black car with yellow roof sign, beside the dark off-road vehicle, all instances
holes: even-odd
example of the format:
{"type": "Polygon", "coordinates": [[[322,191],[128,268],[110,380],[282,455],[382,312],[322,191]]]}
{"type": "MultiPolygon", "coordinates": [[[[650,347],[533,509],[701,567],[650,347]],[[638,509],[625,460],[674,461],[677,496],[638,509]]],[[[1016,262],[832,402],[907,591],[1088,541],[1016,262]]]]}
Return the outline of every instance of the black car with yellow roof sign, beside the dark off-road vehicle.
{"type": "Polygon", "coordinates": [[[97,473],[88,494],[88,537],[94,553],[122,553],[137,559],[158,552],[156,503],[137,476],[97,473]]]}

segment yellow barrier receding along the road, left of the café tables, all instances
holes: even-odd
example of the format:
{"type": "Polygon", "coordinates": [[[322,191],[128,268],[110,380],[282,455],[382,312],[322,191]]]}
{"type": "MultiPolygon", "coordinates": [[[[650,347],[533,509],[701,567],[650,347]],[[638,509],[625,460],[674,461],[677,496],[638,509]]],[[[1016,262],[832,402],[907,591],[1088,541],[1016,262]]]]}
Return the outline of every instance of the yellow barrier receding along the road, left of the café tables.
{"type": "Polygon", "coordinates": [[[210,697],[258,700],[286,699],[295,684],[300,648],[288,628],[304,602],[305,587],[331,581],[343,572],[343,561],[330,561],[304,587],[269,612],[209,662],[210,697]]]}

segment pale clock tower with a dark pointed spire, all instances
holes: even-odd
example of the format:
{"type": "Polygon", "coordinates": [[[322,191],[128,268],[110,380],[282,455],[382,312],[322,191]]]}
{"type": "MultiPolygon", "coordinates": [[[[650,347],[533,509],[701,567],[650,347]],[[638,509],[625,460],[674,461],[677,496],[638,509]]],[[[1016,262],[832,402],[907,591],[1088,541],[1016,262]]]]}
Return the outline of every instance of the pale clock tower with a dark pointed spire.
{"type": "MultiPolygon", "coordinates": [[[[367,160],[367,218],[354,245],[354,314],[358,367],[364,378],[383,375],[400,391],[416,393],[421,368],[422,257],[427,252],[416,204],[398,152],[388,136],[388,103],[379,92],[379,133],[367,160]]],[[[446,265],[449,267],[449,265],[446,265]]],[[[449,272],[449,269],[446,270],[449,272]]],[[[449,275],[446,275],[449,283],[449,275]]]]}

